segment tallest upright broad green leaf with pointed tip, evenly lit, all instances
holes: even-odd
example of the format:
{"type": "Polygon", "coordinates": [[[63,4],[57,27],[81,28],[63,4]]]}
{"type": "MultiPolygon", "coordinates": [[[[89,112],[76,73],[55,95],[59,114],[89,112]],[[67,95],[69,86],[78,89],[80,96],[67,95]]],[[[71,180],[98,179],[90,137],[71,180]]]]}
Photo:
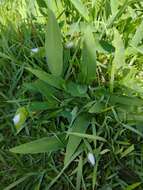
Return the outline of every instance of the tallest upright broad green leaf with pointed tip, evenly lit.
{"type": "Polygon", "coordinates": [[[48,9],[48,28],[46,32],[45,48],[49,69],[55,76],[63,72],[63,46],[61,32],[52,10],[48,9]]]}

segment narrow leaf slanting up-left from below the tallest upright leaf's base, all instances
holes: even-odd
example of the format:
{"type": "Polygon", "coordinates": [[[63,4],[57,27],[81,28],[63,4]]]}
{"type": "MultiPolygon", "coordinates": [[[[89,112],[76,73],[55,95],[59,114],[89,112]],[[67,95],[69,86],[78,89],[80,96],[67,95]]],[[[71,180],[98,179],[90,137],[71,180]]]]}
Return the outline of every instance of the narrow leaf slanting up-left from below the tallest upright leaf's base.
{"type": "Polygon", "coordinates": [[[38,69],[27,68],[27,70],[33,73],[40,80],[46,82],[47,84],[57,89],[62,89],[63,86],[65,85],[64,80],[58,76],[53,76],[49,73],[46,73],[45,71],[41,71],[38,69]]]}

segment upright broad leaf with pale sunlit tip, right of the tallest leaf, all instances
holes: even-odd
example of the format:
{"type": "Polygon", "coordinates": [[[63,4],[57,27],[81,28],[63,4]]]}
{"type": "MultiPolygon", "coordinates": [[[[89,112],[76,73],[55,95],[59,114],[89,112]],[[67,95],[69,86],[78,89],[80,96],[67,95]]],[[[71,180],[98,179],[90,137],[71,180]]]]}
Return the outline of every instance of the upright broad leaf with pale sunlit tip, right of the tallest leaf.
{"type": "Polygon", "coordinates": [[[84,34],[81,81],[90,84],[96,78],[96,44],[90,27],[87,27],[84,34]]]}

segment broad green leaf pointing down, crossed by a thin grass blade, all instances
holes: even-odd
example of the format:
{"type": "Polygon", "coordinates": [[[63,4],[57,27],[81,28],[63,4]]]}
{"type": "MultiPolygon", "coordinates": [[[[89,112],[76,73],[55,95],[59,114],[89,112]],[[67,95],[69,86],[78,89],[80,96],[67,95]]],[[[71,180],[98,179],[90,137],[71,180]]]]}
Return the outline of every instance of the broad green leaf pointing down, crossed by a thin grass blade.
{"type": "MultiPolygon", "coordinates": [[[[88,125],[89,125],[89,120],[88,120],[87,116],[80,115],[79,117],[77,117],[77,119],[73,123],[71,130],[72,130],[72,132],[85,133],[88,125]]],[[[66,147],[65,161],[64,161],[65,165],[69,162],[72,155],[75,153],[81,140],[82,140],[82,137],[69,135],[69,140],[68,140],[68,144],[66,147]]]]}

